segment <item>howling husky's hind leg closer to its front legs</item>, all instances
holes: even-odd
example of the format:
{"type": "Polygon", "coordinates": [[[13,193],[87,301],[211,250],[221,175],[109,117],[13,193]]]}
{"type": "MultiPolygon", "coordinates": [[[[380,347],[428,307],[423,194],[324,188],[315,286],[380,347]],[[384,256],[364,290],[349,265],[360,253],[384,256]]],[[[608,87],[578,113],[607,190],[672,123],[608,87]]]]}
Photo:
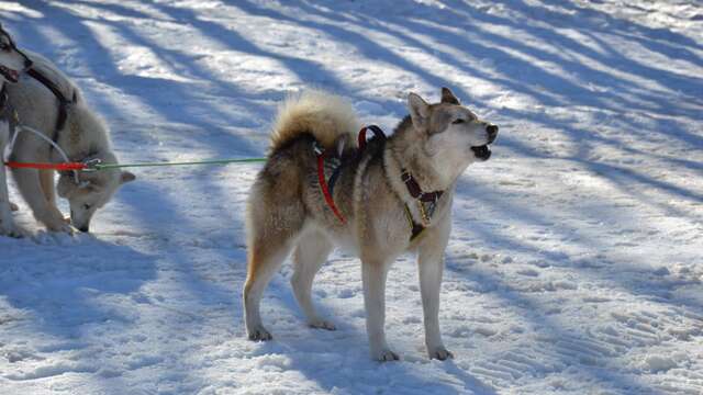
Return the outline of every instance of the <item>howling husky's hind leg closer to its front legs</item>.
{"type": "Polygon", "coordinates": [[[312,303],[312,282],[315,274],[332,251],[333,245],[324,234],[319,230],[306,232],[301,236],[293,252],[293,276],[290,283],[298,304],[303,309],[308,324],[313,328],[334,330],[334,324],[317,316],[315,306],[312,303]]]}

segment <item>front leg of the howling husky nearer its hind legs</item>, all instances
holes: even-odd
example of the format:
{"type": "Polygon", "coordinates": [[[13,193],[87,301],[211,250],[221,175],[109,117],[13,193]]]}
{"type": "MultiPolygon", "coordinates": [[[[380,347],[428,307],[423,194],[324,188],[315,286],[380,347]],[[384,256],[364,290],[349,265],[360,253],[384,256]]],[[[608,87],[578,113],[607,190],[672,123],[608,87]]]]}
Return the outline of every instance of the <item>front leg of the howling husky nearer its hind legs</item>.
{"type": "Polygon", "coordinates": [[[364,305],[366,307],[366,331],[369,337],[371,358],[379,361],[397,361],[400,358],[386,342],[386,276],[390,263],[361,260],[364,305]]]}

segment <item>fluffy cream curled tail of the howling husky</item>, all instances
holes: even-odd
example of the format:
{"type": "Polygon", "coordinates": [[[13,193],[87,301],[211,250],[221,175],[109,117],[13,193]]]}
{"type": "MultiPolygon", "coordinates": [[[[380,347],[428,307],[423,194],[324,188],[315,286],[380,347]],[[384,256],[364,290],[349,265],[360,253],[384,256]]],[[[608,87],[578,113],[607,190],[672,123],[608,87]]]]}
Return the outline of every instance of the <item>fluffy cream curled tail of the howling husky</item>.
{"type": "Polygon", "coordinates": [[[350,142],[360,123],[352,104],[344,98],[322,90],[306,90],[288,97],[278,109],[271,133],[271,151],[310,133],[324,148],[332,148],[337,137],[349,134],[350,142]]]}

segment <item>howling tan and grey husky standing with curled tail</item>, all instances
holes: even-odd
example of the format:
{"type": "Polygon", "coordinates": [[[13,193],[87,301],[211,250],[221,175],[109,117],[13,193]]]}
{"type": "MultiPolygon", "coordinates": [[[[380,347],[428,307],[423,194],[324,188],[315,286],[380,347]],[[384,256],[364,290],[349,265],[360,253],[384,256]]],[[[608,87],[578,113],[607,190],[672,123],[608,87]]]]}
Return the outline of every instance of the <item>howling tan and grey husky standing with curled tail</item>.
{"type": "Polygon", "coordinates": [[[349,147],[359,123],[341,98],[312,91],[283,103],[268,161],[247,203],[244,309],[249,339],[271,338],[261,324],[259,302],[291,250],[291,283],[308,323],[334,329],[315,312],[311,290],[334,245],[342,245],[361,258],[371,357],[398,360],[383,328],[386,276],[395,258],[412,249],[417,251],[427,352],[429,358],[451,358],[438,321],[451,201],[464,170],[490,157],[488,144],[498,126],[480,121],[447,88],[440,103],[427,104],[410,93],[408,106],[410,116],[392,136],[375,138],[361,149],[349,147]],[[315,146],[341,153],[332,204],[321,191],[315,146]]]}

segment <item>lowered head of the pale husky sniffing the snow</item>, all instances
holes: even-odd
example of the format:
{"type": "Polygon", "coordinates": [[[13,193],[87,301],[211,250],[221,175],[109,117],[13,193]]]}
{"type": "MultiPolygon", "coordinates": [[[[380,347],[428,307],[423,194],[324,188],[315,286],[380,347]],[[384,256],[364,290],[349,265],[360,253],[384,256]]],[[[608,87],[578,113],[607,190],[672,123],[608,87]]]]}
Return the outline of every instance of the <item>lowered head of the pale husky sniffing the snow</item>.
{"type": "MultiPolygon", "coordinates": [[[[104,163],[116,163],[116,158],[112,154],[98,159],[104,163]]],[[[58,179],[56,191],[59,196],[69,202],[71,225],[80,232],[89,232],[90,219],[96,211],[108,204],[122,184],[134,179],[135,176],[129,171],[108,169],[81,171],[76,182],[74,174],[68,172],[63,173],[58,179]]]]}

